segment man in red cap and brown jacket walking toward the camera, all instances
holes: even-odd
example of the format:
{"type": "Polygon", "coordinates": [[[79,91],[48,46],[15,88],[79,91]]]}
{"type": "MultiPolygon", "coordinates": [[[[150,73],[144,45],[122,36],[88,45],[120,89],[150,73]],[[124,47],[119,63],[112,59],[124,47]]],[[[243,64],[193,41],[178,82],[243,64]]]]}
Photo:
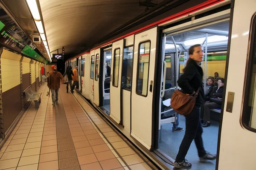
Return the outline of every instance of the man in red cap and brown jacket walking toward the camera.
{"type": "Polygon", "coordinates": [[[52,71],[49,72],[47,77],[47,86],[52,92],[52,105],[58,104],[58,90],[63,84],[64,77],[57,71],[57,65],[52,65],[52,71]],[[50,80],[50,81],[49,81],[50,80]]]}

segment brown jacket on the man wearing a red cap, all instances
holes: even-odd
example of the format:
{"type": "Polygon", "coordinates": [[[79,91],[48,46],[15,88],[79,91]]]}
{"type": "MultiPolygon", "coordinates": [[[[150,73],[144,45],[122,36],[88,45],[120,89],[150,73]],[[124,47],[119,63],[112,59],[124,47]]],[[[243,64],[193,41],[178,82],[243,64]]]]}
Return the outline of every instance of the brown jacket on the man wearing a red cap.
{"type": "Polygon", "coordinates": [[[64,81],[64,77],[62,76],[62,74],[58,71],[49,72],[48,77],[47,77],[47,86],[48,86],[48,88],[49,88],[49,76],[51,77],[50,88],[53,88],[55,90],[59,89],[60,86],[61,86],[61,83],[63,83],[63,81],[64,81]]]}

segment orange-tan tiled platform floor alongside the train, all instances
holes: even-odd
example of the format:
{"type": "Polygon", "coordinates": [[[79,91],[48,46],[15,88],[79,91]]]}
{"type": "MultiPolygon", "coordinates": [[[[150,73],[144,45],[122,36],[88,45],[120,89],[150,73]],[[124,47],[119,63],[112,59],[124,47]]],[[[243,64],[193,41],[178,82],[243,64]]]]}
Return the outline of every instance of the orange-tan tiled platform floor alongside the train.
{"type": "Polygon", "coordinates": [[[59,90],[52,106],[41,86],[41,105],[24,112],[0,149],[0,170],[151,170],[157,169],[74,92],[59,90]]]}

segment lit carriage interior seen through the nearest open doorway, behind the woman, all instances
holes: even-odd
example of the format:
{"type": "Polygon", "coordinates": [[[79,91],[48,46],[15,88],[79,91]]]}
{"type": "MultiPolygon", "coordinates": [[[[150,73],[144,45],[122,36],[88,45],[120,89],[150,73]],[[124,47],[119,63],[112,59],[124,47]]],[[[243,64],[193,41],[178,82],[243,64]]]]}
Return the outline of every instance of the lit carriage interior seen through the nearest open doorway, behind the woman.
{"type": "MultiPolygon", "coordinates": [[[[183,68],[186,66],[186,61],[189,57],[189,47],[195,44],[201,44],[204,53],[204,59],[203,62],[201,62],[201,67],[204,72],[204,81],[202,82],[204,85],[203,87],[205,87],[205,83],[207,83],[207,79],[209,77],[215,78],[215,72],[218,73],[219,78],[224,78],[228,32],[229,21],[225,21],[218,24],[209,25],[207,27],[190,29],[189,31],[185,32],[174,32],[166,35],[164,58],[166,62],[166,79],[163,81],[165,82],[164,95],[162,95],[163,91],[161,94],[163,97],[161,99],[162,105],[160,105],[161,120],[158,150],[160,150],[160,153],[163,153],[163,155],[168,155],[167,157],[169,157],[171,160],[175,160],[176,158],[180,143],[185,134],[186,127],[185,116],[177,116],[170,105],[170,99],[177,86],[177,71],[179,71],[179,76],[183,74],[183,68]],[[205,65],[206,55],[207,60],[205,65]],[[178,63],[175,62],[177,57],[179,58],[178,63]],[[178,68],[176,65],[178,65],[178,68]],[[172,131],[175,119],[176,123],[179,121],[179,127],[184,128],[183,131],[172,131]]],[[[217,82],[213,82],[213,84],[214,86],[218,86],[217,82]]],[[[221,107],[212,108],[210,110],[210,126],[203,127],[202,137],[204,147],[210,153],[217,152],[218,129],[221,111],[220,108],[221,107]]],[[[193,164],[195,169],[215,170],[215,161],[209,161],[205,164],[202,164],[198,161],[198,157],[195,156],[195,153],[197,153],[197,149],[195,143],[192,142],[191,147],[186,155],[186,159],[193,164]]]]}

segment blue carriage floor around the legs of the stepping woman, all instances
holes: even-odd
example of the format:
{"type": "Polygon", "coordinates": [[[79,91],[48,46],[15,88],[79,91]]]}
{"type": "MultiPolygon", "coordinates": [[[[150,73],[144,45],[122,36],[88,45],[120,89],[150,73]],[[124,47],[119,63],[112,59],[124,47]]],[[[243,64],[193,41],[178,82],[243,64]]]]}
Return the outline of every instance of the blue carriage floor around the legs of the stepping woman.
{"type": "MultiPolygon", "coordinates": [[[[163,124],[162,129],[162,141],[159,144],[159,148],[164,151],[172,159],[176,158],[179,151],[180,143],[185,134],[185,117],[180,115],[180,127],[184,130],[180,132],[172,132],[172,124],[163,124]]],[[[216,154],[218,143],[218,127],[219,123],[211,120],[211,126],[203,127],[203,142],[204,148],[210,153],[216,154]]],[[[215,170],[216,161],[200,162],[198,158],[198,152],[193,141],[189,151],[186,155],[188,162],[192,163],[191,170],[215,170]]]]}

